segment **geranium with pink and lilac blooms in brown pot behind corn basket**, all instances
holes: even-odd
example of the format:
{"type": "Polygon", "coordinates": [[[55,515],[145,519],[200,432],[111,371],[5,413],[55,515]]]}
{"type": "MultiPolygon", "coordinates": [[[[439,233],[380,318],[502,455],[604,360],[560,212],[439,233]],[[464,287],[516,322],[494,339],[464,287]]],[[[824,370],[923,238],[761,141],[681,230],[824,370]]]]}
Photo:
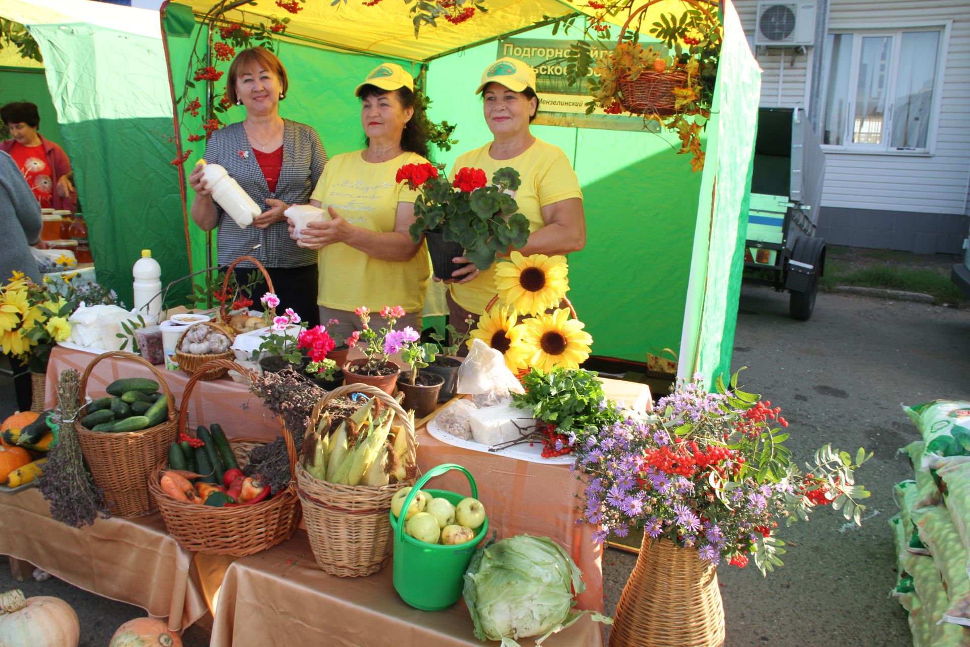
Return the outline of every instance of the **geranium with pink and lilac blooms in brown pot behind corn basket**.
{"type": "Polygon", "coordinates": [[[380,316],[387,325],[379,331],[371,327],[371,310],[368,307],[355,308],[354,313],[360,317],[364,330],[354,331],[349,343],[351,346],[359,340],[366,343],[362,348],[365,358],[343,365],[343,382],[370,384],[388,395],[394,395],[394,385],[401,367],[391,361],[391,355],[401,350],[404,341],[414,341],[421,336],[410,326],[404,327],[404,330],[394,330],[394,324],[406,314],[401,306],[381,308],[380,316]]]}

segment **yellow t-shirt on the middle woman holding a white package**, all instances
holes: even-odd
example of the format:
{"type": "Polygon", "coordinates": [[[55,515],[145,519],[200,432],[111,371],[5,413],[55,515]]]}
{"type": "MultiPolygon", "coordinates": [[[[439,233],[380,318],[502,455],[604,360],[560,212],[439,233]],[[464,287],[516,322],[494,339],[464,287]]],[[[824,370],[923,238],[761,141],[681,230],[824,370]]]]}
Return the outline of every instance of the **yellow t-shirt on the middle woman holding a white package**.
{"type": "MultiPolygon", "coordinates": [[[[393,232],[398,203],[413,203],[415,191],[395,181],[404,164],[424,164],[421,155],[404,152],[392,160],[372,164],[360,150],[340,154],[323,169],[311,200],[323,209],[333,206],[341,217],[355,227],[372,232],[393,232]]],[[[352,310],[366,306],[372,311],[384,306],[401,306],[408,312],[421,312],[431,275],[428,248],[421,248],[404,262],[383,261],[345,243],[320,249],[320,306],[352,310]]]]}

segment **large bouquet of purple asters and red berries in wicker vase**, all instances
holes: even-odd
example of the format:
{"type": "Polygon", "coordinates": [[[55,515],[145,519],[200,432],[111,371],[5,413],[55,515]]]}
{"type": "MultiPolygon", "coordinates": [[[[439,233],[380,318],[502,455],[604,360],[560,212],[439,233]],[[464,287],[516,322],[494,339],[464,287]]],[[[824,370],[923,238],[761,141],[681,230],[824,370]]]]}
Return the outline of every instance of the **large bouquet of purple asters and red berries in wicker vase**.
{"type": "Polygon", "coordinates": [[[744,567],[751,554],[762,574],[782,566],[779,522],[808,520],[816,505],[831,503],[856,524],[869,496],[854,470],[868,460],[824,445],[807,471],[785,446],[788,421],[780,407],[719,377],[717,392],[700,375],[678,383],[643,418],[621,416],[598,430],[570,438],[575,468],[586,474],[583,519],[598,526],[594,539],[642,528],[714,565],[744,567]]]}

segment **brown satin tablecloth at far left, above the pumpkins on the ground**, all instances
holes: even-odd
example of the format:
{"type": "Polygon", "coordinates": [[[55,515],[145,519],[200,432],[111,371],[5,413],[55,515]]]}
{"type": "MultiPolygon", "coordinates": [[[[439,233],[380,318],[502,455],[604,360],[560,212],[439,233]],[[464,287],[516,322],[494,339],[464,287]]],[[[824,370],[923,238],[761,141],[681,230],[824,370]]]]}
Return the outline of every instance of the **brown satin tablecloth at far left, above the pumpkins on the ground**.
{"type": "Polygon", "coordinates": [[[0,554],[26,560],[90,593],[169,618],[173,630],[209,606],[189,577],[192,554],[178,547],[159,514],[98,519],[81,529],[50,518],[40,490],[0,495],[0,554]]]}

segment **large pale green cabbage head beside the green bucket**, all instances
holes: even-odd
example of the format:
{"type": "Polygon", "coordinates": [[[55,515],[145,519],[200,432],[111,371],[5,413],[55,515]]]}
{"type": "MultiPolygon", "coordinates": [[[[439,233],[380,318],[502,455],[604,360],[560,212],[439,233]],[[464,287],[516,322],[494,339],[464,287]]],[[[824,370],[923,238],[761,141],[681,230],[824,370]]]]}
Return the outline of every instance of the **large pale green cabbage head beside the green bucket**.
{"type": "Polygon", "coordinates": [[[496,542],[493,534],[465,573],[465,601],[475,636],[518,647],[517,638],[541,634],[535,640],[539,645],[584,613],[611,624],[596,611],[571,611],[573,590],[586,590],[582,577],[566,551],[548,537],[520,534],[496,542]]]}

